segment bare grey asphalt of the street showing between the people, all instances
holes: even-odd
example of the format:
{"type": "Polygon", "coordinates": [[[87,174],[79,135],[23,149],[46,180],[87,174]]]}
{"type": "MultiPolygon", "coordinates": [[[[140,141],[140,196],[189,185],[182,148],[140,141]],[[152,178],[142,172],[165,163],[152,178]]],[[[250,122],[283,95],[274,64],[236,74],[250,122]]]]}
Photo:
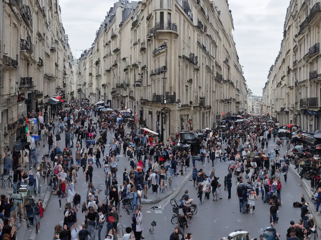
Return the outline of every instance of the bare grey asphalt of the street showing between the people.
{"type": "MultiPolygon", "coordinates": [[[[98,138],[98,137],[97,137],[98,138]]],[[[112,139],[112,135],[108,134],[108,139],[112,139]]],[[[107,153],[107,148],[105,150],[105,155],[107,153]]],[[[223,148],[225,144],[223,145],[223,148]]],[[[273,141],[270,141],[269,147],[266,152],[270,152],[273,150],[275,145],[273,145],[273,141]]],[[[73,153],[74,153],[73,149],[73,153]]],[[[286,148],[282,148],[280,151],[281,156],[285,154],[286,148]]],[[[122,178],[123,168],[127,166],[129,167],[129,163],[127,158],[121,156],[118,163],[118,174],[122,178]]],[[[203,168],[203,171],[210,175],[212,164],[207,163],[205,161],[205,165],[201,166],[200,162],[196,162],[197,169],[203,168]]],[[[94,186],[98,184],[104,184],[104,172],[103,167],[100,169],[96,168],[96,165],[93,165],[93,183],[94,186]]],[[[203,203],[199,204],[199,199],[196,196],[196,190],[193,187],[192,181],[187,181],[185,186],[180,190],[177,194],[176,199],[179,199],[185,190],[188,190],[189,196],[194,199],[194,203],[198,206],[198,211],[195,216],[193,216],[192,223],[188,224],[189,228],[185,229],[185,232],[193,233],[195,239],[219,239],[223,236],[227,236],[230,232],[235,229],[245,229],[250,232],[251,237],[259,237],[259,235],[263,232],[262,229],[268,227],[269,223],[269,204],[264,204],[261,200],[261,194],[256,200],[256,209],[253,214],[240,214],[239,213],[239,200],[236,197],[236,185],[233,176],[233,186],[232,186],[232,198],[228,201],[227,196],[228,192],[224,191],[224,176],[227,174],[228,164],[224,162],[218,162],[214,165],[215,175],[219,177],[219,182],[222,184],[220,188],[221,193],[220,197],[222,200],[217,202],[213,202],[213,196],[211,194],[209,200],[204,200],[203,194],[203,203]],[[206,231],[204,231],[207,229],[206,231]]],[[[82,171],[77,172],[77,183],[75,183],[75,192],[80,194],[82,197],[82,202],[85,201],[87,194],[87,186],[88,183],[85,182],[85,177],[82,174],[82,171]]],[[[119,175],[118,175],[119,176],[119,175]]],[[[174,177],[174,179],[182,180],[183,177],[178,176],[174,177]]],[[[176,182],[176,180],[174,181],[176,182]]],[[[284,182],[284,178],[281,178],[282,182],[282,206],[279,208],[278,216],[279,223],[275,224],[275,228],[278,233],[281,235],[285,235],[286,229],[289,227],[289,223],[291,220],[298,222],[300,219],[300,209],[293,208],[293,201],[299,201],[300,193],[304,193],[301,186],[299,186],[299,181],[296,176],[292,174],[291,171],[288,173],[288,181],[284,182]]],[[[150,193],[151,191],[149,191],[150,193]]],[[[99,200],[103,201],[105,198],[104,194],[101,193],[99,196],[99,200]]],[[[174,225],[171,224],[170,220],[173,215],[172,206],[169,203],[170,197],[160,201],[155,204],[143,204],[143,235],[146,239],[166,239],[169,237],[171,232],[174,230],[174,225]],[[153,206],[161,206],[160,209],[155,208],[155,210],[151,209],[153,206]],[[157,222],[157,226],[153,233],[149,233],[148,229],[151,227],[151,222],[155,220],[157,222]]],[[[65,199],[62,199],[62,205],[66,203],[65,199]]],[[[59,210],[59,203],[57,196],[51,196],[48,208],[45,212],[45,216],[40,220],[40,229],[42,231],[36,236],[35,239],[45,239],[48,235],[51,237],[53,235],[53,227],[56,224],[62,224],[64,215],[63,215],[64,207],[62,206],[62,210],[59,210]]],[[[180,210],[181,211],[181,210],[180,210]]],[[[119,223],[123,226],[131,226],[132,215],[128,216],[126,213],[122,213],[122,217],[119,218],[119,223]]],[[[78,211],[77,213],[78,224],[81,224],[84,221],[84,213],[78,211]]],[[[106,228],[104,227],[102,230],[102,236],[106,234],[106,228]]],[[[96,231],[96,239],[98,239],[98,231],[96,231]]]]}

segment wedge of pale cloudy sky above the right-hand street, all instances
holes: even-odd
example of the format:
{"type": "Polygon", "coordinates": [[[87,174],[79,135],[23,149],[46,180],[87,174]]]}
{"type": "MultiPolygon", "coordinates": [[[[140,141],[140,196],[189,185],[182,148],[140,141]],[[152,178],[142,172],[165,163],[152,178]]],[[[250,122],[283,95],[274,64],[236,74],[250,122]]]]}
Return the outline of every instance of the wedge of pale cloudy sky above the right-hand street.
{"type": "Polygon", "coordinates": [[[269,69],[279,54],[289,3],[290,0],[229,0],[239,62],[254,95],[262,96],[269,69]]]}

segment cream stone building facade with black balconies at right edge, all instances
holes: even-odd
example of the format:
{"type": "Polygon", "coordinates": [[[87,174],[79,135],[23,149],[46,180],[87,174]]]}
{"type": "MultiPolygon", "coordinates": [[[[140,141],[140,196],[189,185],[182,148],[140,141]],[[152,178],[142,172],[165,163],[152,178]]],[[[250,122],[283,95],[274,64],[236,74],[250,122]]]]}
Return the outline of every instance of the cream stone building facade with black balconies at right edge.
{"type": "Polygon", "coordinates": [[[263,113],[281,125],[321,129],[319,0],[292,0],[286,12],[281,49],[263,88],[263,113]]]}

